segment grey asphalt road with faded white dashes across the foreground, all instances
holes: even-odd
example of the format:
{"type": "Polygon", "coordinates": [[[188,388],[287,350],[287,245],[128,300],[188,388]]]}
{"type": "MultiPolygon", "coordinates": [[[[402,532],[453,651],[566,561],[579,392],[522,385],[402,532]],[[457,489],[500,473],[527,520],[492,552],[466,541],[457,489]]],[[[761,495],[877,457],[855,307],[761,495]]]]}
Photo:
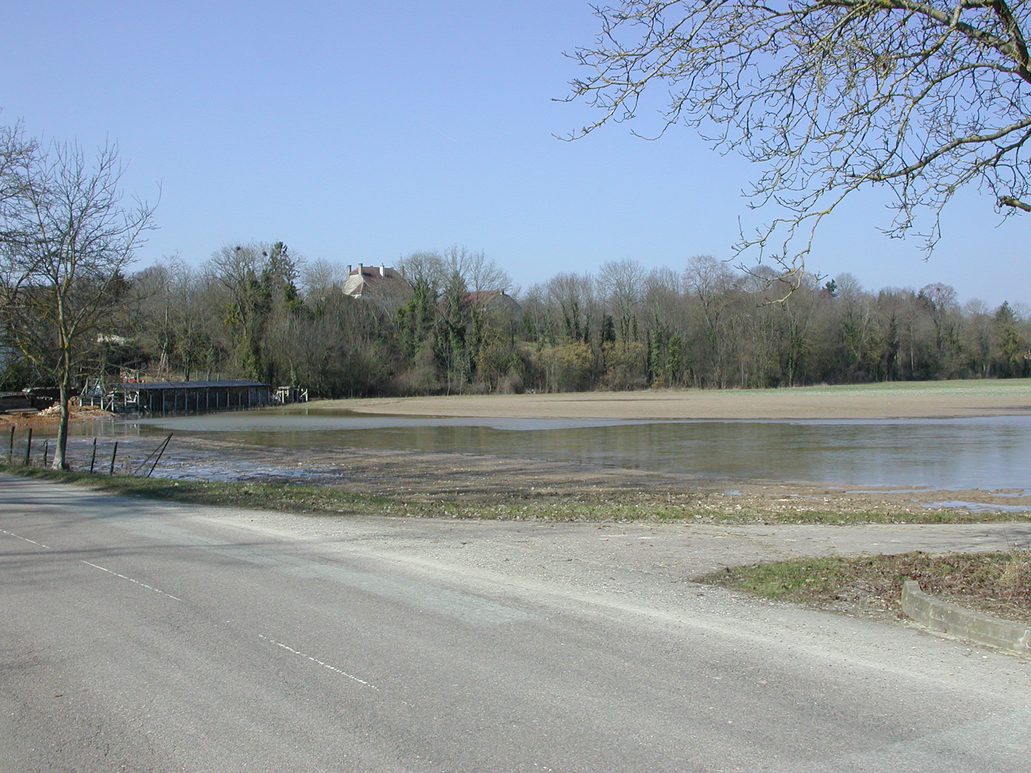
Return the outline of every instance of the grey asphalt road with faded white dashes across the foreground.
{"type": "MultiPolygon", "coordinates": [[[[1031,760],[1031,664],[702,589],[646,527],[310,518],[0,476],[0,771],[1031,760]]],[[[793,533],[778,544],[811,539],[793,533]]]]}

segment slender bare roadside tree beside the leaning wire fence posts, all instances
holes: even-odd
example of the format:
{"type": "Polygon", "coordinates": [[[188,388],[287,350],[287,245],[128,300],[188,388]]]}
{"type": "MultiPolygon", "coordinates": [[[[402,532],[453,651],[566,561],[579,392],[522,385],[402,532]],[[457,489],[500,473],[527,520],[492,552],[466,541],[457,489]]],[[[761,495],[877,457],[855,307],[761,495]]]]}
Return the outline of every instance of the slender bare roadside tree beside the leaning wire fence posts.
{"type": "Polygon", "coordinates": [[[154,208],[123,204],[123,168],[108,145],[92,162],[77,145],[54,144],[20,161],[23,237],[5,245],[0,308],[9,341],[60,388],[55,469],[66,469],[68,400],[126,300],[125,268],[154,208]]]}

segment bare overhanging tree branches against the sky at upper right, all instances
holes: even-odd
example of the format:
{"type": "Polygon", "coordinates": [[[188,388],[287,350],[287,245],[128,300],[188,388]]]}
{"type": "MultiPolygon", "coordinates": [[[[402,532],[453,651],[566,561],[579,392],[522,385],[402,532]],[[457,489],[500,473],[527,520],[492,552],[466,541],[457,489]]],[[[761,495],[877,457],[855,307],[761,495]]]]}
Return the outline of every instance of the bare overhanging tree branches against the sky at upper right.
{"type": "Polygon", "coordinates": [[[668,88],[662,131],[685,124],[762,171],[751,203],[776,210],[738,254],[779,264],[797,288],[821,220],[886,187],[885,230],[931,249],[942,207],[974,184],[1007,213],[1031,211],[1031,3],[1006,0],[625,0],[573,57],[592,74],[569,99],[601,108],[573,136],[634,117],[668,88]]]}

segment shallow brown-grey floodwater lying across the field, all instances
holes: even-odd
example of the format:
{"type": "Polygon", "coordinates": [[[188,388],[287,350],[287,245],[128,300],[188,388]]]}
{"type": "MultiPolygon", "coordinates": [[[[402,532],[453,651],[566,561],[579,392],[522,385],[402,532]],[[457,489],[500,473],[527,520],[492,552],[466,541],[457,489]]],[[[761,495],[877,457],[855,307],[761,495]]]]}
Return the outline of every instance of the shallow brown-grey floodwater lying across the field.
{"type": "MultiPolygon", "coordinates": [[[[1031,490],[1031,416],[655,422],[433,418],[300,408],[129,419],[107,428],[147,439],[173,432],[180,438],[290,449],[294,457],[304,448],[423,450],[741,480],[1031,490]]],[[[78,432],[92,435],[97,429],[78,432]]]]}

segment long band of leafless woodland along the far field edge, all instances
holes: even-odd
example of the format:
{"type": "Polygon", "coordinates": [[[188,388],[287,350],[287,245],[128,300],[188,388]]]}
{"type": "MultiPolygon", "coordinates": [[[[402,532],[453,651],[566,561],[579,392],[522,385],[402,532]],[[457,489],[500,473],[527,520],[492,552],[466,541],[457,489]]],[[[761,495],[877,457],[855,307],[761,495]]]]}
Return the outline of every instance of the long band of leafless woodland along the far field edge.
{"type": "MultiPolygon", "coordinates": [[[[138,369],[338,398],[1031,375],[1024,307],[961,305],[940,283],[865,291],[841,274],[787,295],[772,271],[699,256],[680,270],[612,261],[514,292],[459,247],[397,267],[403,279],[352,298],[346,267],[281,242],[227,245],[198,268],[162,260],[124,278],[123,313],[82,378],[138,369]]],[[[3,388],[35,380],[9,354],[3,388]]]]}

